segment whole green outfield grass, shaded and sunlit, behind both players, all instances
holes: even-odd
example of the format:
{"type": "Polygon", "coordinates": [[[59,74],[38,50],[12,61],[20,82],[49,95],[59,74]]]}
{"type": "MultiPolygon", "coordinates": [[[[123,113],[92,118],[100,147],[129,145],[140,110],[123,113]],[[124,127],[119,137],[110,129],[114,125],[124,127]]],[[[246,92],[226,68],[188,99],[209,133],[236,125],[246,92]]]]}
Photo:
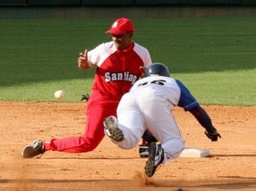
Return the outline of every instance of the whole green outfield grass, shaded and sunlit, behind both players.
{"type": "MultiPolygon", "coordinates": [[[[0,100],[77,102],[94,69],[78,53],[110,41],[111,19],[0,20],[0,100]]],[[[134,40],[203,104],[256,105],[256,18],[134,19],[134,40]]]]}

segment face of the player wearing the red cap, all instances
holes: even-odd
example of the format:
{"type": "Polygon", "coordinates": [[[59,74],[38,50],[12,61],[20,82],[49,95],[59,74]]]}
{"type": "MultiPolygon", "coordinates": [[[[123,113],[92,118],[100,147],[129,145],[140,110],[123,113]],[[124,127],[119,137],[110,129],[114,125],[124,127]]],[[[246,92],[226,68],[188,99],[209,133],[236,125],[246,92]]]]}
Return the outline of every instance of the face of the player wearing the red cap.
{"type": "Polygon", "coordinates": [[[121,35],[112,34],[112,40],[118,50],[123,50],[130,46],[132,42],[132,34],[128,32],[121,35]]]}

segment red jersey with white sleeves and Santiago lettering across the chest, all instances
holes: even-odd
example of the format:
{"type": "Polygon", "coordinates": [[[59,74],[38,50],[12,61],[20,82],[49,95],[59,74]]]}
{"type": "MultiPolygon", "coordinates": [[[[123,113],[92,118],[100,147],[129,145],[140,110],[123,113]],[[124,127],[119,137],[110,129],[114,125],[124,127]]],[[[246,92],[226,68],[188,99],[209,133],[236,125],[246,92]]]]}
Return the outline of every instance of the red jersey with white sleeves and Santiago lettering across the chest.
{"type": "Polygon", "coordinates": [[[141,76],[140,66],[152,63],[149,51],[135,42],[125,50],[117,50],[114,42],[102,43],[88,52],[88,62],[97,66],[92,90],[102,101],[119,101],[141,76]]]}

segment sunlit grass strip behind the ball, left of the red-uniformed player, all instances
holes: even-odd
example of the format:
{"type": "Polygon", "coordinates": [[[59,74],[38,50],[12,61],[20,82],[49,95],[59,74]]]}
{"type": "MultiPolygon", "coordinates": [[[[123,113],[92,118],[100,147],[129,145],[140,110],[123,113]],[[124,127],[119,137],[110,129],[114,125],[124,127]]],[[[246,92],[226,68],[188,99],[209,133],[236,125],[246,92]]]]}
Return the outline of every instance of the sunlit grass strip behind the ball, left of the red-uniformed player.
{"type": "Polygon", "coordinates": [[[82,94],[90,93],[92,79],[70,79],[52,82],[31,82],[1,88],[2,100],[78,102],[82,94]],[[65,99],[56,100],[54,92],[64,90],[65,99]]]}

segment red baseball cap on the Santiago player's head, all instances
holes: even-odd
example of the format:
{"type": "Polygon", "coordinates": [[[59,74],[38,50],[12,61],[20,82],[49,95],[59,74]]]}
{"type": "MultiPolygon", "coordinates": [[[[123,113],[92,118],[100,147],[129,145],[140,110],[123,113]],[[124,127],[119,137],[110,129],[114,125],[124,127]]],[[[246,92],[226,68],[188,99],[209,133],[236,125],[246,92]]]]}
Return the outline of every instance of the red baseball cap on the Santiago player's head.
{"type": "Polygon", "coordinates": [[[134,24],[128,18],[118,18],[110,30],[106,31],[106,34],[124,34],[125,32],[134,32],[134,24]]]}

